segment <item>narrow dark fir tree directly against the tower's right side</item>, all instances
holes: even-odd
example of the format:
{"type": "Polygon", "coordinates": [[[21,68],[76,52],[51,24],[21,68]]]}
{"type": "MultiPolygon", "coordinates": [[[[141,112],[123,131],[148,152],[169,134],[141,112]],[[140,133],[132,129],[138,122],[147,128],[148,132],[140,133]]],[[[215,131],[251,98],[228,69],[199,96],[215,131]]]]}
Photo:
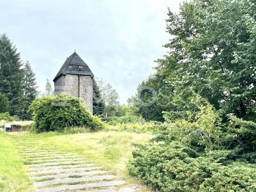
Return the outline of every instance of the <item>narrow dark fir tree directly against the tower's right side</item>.
{"type": "Polygon", "coordinates": [[[105,110],[105,102],[103,101],[100,93],[100,88],[96,81],[93,79],[93,115],[102,115],[105,110]]]}

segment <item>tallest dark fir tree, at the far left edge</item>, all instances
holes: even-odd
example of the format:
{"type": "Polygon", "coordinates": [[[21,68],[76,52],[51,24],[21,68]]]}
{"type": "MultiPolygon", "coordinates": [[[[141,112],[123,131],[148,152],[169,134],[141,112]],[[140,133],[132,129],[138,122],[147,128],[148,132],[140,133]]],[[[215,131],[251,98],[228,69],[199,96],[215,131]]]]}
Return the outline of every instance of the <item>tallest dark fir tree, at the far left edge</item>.
{"type": "Polygon", "coordinates": [[[6,34],[0,35],[0,92],[10,102],[10,114],[20,116],[23,100],[23,76],[20,53],[6,34]]]}

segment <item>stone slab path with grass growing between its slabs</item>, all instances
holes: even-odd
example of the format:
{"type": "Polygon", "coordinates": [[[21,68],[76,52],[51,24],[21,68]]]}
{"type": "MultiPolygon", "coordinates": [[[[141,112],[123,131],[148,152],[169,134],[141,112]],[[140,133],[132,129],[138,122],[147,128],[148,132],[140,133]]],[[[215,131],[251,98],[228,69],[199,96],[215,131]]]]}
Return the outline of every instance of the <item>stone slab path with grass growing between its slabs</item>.
{"type": "Polygon", "coordinates": [[[21,145],[20,155],[29,159],[27,174],[34,181],[36,192],[87,191],[135,192],[136,186],[127,186],[125,180],[109,174],[75,153],[66,153],[52,145],[41,145],[15,134],[21,145]],[[42,147],[41,147],[42,146],[42,147]]]}

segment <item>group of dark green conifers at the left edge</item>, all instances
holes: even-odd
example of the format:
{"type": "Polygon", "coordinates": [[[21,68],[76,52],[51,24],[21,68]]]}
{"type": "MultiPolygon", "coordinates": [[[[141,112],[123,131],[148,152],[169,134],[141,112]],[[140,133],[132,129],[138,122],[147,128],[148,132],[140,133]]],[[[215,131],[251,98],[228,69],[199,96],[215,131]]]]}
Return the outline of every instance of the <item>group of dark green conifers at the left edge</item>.
{"type": "Polygon", "coordinates": [[[0,93],[0,113],[31,118],[28,107],[38,94],[35,74],[6,34],[0,35],[0,93]]]}

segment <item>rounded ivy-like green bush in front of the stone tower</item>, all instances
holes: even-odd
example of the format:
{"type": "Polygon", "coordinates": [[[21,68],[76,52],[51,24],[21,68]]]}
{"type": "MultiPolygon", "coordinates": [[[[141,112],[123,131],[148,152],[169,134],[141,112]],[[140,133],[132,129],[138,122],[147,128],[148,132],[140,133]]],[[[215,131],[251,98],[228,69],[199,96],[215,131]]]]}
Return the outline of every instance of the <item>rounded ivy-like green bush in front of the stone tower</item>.
{"type": "Polygon", "coordinates": [[[102,129],[105,124],[93,116],[84,102],[65,94],[36,99],[30,106],[33,111],[35,132],[63,131],[69,126],[85,126],[91,130],[102,129]]]}

